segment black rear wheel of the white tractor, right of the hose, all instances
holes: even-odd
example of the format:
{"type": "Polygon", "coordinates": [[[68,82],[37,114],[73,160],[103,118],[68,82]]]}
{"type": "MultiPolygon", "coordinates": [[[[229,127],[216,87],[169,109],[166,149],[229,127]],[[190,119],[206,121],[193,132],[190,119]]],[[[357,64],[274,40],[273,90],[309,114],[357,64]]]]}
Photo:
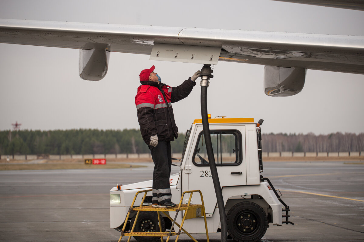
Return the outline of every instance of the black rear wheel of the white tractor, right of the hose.
{"type": "Polygon", "coordinates": [[[234,205],[226,216],[227,233],[238,242],[256,242],[268,228],[264,209],[254,202],[240,202],[234,205]]]}

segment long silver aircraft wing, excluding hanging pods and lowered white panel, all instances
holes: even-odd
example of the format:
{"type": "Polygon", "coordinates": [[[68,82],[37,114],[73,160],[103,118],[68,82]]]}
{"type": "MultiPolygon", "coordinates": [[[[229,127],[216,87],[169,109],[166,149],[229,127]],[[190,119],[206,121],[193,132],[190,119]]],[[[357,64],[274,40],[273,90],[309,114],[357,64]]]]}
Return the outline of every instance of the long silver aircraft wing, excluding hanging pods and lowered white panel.
{"type": "Polygon", "coordinates": [[[154,43],[211,46],[219,61],[364,73],[363,36],[0,19],[0,42],[148,55],[154,43]]]}

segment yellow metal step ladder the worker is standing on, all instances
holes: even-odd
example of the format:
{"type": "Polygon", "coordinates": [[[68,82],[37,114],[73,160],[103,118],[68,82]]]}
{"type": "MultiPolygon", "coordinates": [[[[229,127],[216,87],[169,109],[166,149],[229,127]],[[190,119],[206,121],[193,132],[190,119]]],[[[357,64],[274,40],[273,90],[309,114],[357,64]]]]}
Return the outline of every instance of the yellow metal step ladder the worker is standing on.
{"type": "Polygon", "coordinates": [[[149,189],[149,190],[142,190],[142,191],[139,191],[137,193],[135,193],[135,196],[134,196],[134,200],[130,206],[130,209],[128,211],[128,214],[125,218],[125,221],[124,221],[124,226],[123,226],[123,229],[121,231],[121,235],[120,235],[120,238],[119,238],[119,241],[121,241],[121,238],[123,238],[123,236],[129,236],[129,239],[128,239],[128,242],[130,241],[131,239],[131,236],[154,236],[154,237],[161,237],[161,241],[163,241],[163,237],[167,237],[167,240],[166,242],[169,241],[169,238],[173,235],[177,235],[177,238],[175,239],[175,242],[178,241],[178,238],[179,238],[179,234],[181,233],[181,230],[183,232],[185,232],[191,239],[193,239],[193,241],[195,242],[198,242],[195,238],[192,237],[192,235],[190,235],[189,233],[187,233],[187,231],[185,229],[182,228],[183,226],[183,223],[185,222],[186,219],[190,219],[190,218],[197,218],[197,217],[202,217],[204,218],[205,220],[205,228],[206,228],[206,238],[207,238],[207,242],[209,242],[209,233],[207,232],[207,222],[206,222],[206,213],[205,213],[205,205],[203,203],[203,198],[202,198],[202,193],[200,190],[192,190],[192,191],[186,191],[186,192],[183,192],[182,193],[182,196],[181,196],[181,200],[179,201],[179,204],[174,206],[174,207],[171,207],[171,208],[155,208],[155,207],[152,207],[151,205],[149,206],[143,206],[143,203],[144,203],[144,200],[145,200],[145,197],[147,196],[147,192],[151,192],[152,189],[149,189]],[[137,199],[137,196],[139,193],[142,193],[144,192],[144,196],[143,196],[143,199],[142,199],[142,202],[140,204],[139,207],[135,207],[134,208],[134,202],[135,200],[137,199]],[[201,197],[201,202],[202,204],[190,204],[191,202],[191,198],[192,198],[192,195],[194,192],[199,192],[200,194],[200,197],[201,197]],[[189,200],[188,200],[188,203],[187,204],[182,204],[182,201],[183,201],[183,196],[185,196],[186,193],[190,193],[190,197],[189,197],[189,200]],[[134,220],[134,224],[130,230],[130,232],[128,233],[124,233],[125,231],[125,227],[126,227],[126,223],[129,219],[129,216],[130,216],[130,212],[131,211],[138,211],[137,212],[137,215],[135,217],[135,220],[134,220]],[[181,222],[181,225],[179,225],[177,222],[176,222],[176,219],[177,219],[177,215],[178,215],[178,212],[179,211],[182,211],[182,210],[185,210],[185,214],[183,215],[183,218],[182,218],[182,222],[181,222]],[[159,231],[160,232],[134,232],[134,228],[135,228],[135,224],[137,223],[137,220],[138,220],[138,216],[139,216],[139,212],[140,211],[150,211],[150,212],[157,212],[157,216],[158,216],[158,224],[159,224],[159,231]],[[159,216],[159,212],[162,212],[167,218],[169,218],[171,221],[172,221],[172,226],[171,226],[171,229],[169,232],[161,232],[162,231],[162,225],[161,225],[161,217],[159,216]],[[168,213],[166,212],[176,212],[176,215],[173,218],[171,218],[169,216],[168,213]],[[178,232],[172,232],[172,229],[173,229],[173,226],[174,225],[177,225],[179,227],[179,231],[178,232]]]}

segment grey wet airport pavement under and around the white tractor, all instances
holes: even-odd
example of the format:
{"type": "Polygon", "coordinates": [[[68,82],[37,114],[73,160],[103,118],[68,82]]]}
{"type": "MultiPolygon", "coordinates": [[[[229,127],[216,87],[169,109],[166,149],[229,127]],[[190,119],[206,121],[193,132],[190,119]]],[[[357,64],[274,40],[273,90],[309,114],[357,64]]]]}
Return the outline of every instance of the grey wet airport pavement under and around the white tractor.
{"type": "MultiPolygon", "coordinates": [[[[150,180],[153,164],[145,165],[0,171],[0,241],[118,241],[120,233],[110,229],[109,190],[150,180]]],[[[283,194],[294,225],[270,225],[261,241],[364,241],[363,164],[266,162],[263,175],[283,194]]],[[[221,234],[209,236],[220,241],[221,234]]],[[[194,237],[206,241],[204,234],[194,237]]],[[[179,241],[191,239],[181,235],[179,241]]]]}

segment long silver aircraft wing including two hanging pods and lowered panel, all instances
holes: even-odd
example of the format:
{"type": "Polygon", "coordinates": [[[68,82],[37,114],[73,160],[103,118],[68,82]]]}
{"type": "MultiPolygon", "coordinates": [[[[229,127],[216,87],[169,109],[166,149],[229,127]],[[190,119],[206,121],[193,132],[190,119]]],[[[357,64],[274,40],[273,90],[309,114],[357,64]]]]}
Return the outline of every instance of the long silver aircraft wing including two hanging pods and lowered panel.
{"type": "Polygon", "coordinates": [[[80,49],[80,77],[94,81],[110,52],[265,65],[265,92],[276,96],[296,94],[306,69],[364,74],[363,36],[0,19],[0,43],[80,49]]]}

